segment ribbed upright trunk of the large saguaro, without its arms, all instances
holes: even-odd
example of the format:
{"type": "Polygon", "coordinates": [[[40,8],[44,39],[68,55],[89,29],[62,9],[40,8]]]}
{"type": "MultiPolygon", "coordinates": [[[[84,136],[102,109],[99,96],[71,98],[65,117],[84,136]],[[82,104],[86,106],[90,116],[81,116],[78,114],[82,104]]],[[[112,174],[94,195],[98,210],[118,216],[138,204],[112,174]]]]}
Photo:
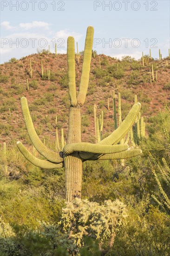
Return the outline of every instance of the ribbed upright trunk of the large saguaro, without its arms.
{"type": "MultiPolygon", "coordinates": [[[[81,108],[70,107],[67,144],[81,142],[81,108]]],[[[81,197],[82,159],[78,152],[64,155],[66,200],[71,202],[74,197],[81,197]]]]}

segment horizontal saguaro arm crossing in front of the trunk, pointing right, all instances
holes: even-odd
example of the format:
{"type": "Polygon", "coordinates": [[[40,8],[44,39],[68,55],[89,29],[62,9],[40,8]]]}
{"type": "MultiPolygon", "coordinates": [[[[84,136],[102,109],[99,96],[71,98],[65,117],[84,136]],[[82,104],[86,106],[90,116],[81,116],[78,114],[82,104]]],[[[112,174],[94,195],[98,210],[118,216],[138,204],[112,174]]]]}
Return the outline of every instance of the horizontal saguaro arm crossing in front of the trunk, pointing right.
{"type": "Polygon", "coordinates": [[[90,152],[96,154],[110,154],[126,150],[128,145],[99,145],[87,142],[70,143],[64,146],[65,155],[72,154],[74,151],[90,152]]]}

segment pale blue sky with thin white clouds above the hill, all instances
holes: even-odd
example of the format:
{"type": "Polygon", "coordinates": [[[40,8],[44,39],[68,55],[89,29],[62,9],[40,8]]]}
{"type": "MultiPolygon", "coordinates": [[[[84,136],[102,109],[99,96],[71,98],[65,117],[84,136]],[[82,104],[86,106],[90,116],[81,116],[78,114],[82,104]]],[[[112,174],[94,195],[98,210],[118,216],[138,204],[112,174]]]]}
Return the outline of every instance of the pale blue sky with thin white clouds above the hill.
{"type": "Polygon", "coordinates": [[[0,63],[39,50],[66,53],[68,36],[84,50],[88,26],[94,27],[93,50],[119,59],[142,52],[159,58],[170,48],[169,0],[0,0],[0,63]]]}

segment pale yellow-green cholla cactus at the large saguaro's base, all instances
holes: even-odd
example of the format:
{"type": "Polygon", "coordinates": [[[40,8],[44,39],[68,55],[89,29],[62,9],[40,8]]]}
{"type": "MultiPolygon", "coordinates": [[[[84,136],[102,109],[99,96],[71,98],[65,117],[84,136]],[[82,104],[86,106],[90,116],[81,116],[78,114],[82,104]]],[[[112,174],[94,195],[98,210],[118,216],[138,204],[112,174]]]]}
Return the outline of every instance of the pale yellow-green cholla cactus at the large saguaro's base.
{"type": "Polygon", "coordinates": [[[78,247],[83,245],[84,236],[95,237],[100,246],[104,241],[112,246],[115,231],[124,223],[126,216],[125,205],[118,199],[114,202],[107,200],[100,205],[76,198],[62,209],[59,226],[78,247]]]}

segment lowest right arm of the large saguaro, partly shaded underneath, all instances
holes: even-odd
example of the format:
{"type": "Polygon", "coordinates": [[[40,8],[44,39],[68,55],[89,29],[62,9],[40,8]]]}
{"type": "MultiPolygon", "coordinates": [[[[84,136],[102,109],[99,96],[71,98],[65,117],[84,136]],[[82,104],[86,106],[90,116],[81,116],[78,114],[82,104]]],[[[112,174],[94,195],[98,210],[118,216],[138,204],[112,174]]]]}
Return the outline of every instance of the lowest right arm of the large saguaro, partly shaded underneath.
{"type": "Polygon", "coordinates": [[[131,158],[137,155],[140,155],[142,153],[141,149],[131,149],[131,150],[125,150],[123,152],[119,153],[112,153],[112,154],[105,154],[105,155],[99,155],[99,154],[93,154],[91,158],[87,158],[86,155],[80,154],[80,156],[84,159],[84,161],[93,161],[93,160],[117,160],[117,159],[127,159],[131,158]]]}

